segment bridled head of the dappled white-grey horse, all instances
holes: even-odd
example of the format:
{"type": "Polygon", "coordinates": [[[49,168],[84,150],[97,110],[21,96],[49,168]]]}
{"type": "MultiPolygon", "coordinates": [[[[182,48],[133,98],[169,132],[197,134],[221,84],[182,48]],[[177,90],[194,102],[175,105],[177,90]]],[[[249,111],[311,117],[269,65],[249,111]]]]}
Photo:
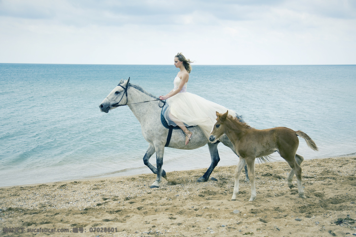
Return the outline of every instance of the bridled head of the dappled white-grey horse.
{"type": "Polygon", "coordinates": [[[99,105],[100,111],[108,113],[110,109],[127,104],[127,88],[129,87],[130,77],[126,81],[121,79],[119,85],[112,90],[99,105]]]}

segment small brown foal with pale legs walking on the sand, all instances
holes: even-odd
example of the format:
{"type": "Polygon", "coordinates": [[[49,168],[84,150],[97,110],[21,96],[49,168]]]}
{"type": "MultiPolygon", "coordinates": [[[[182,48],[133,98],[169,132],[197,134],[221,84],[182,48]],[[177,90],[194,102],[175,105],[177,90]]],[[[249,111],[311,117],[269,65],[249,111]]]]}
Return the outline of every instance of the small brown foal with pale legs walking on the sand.
{"type": "Polygon", "coordinates": [[[255,159],[256,157],[268,156],[276,151],[292,168],[287,177],[289,188],[292,189],[293,187],[292,180],[295,173],[298,181],[299,196],[305,198],[302,185],[302,168],[299,166],[304,158],[296,154],[299,145],[297,136],[304,138],[311,149],[314,151],[318,150],[315,142],[307,134],[285,127],[262,130],[254,129],[246,123],[239,122],[239,120],[233,118],[231,115],[227,115],[227,112],[224,114],[216,112],[216,116],[218,118],[216,118],[213,130],[210,133],[210,142],[215,142],[220,136],[226,134],[240,156],[239,164],[235,169],[235,187],[232,200],[235,200],[236,194],[239,193],[240,173],[245,164],[247,164],[248,177],[251,182],[251,198],[248,201],[255,200],[255,159]]]}

